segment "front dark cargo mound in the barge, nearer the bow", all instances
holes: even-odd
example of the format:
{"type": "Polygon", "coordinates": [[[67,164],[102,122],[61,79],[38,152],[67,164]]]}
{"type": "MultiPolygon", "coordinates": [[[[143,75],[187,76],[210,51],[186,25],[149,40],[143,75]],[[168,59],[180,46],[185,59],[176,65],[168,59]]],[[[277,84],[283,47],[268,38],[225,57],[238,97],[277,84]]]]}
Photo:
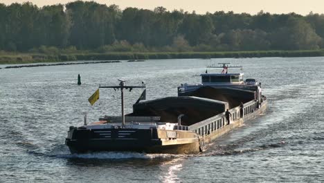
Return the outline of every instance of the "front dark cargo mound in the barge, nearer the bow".
{"type": "Polygon", "coordinates": [[[178,116],[184,114],[181,125],[192,125],[226,109],[228,103],[223,101],[195,96],[175,96],[134,104],[133,113],[127,116],[161,116],[161,122],[177,123],[178,116]]]}

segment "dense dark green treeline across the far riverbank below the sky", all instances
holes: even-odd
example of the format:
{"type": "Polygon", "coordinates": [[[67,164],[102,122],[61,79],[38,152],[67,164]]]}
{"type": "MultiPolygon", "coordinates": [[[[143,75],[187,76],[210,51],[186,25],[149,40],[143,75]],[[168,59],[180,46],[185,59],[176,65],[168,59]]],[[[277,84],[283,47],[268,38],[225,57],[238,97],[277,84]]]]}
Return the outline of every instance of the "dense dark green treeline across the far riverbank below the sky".
{"type": "Polygon", "coordinates": [[[197,15],[74,1],[39,8],[0,3],[0,50],[28,53],[324,49],[324,15],[197,15]]]}

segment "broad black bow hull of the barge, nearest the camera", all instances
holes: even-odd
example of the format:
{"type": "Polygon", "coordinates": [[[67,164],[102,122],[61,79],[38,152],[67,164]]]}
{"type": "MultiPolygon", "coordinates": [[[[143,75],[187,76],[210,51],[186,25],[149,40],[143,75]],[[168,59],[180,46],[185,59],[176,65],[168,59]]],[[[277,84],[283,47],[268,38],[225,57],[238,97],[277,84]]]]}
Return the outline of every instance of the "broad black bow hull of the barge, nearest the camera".
{"type": "Polygon", "coordinates": [[[177,137],[168,138],[166,130],[134,130],[123,128],[104,130],[106,130],[105,132],[111,131],[110,139],[100,135],[100,131],[102,132],[103,130],[73,128],[69,131],[69,137],[66,138],[66,146],[69,146],[71,153],[100,151],[131,151],[138,153],[169,154],[199,153],[198,136],[189,131],[177,131],[177,137]],[[127,131],[133,133],[125,137],[116,136],[118,132],[125,133],[127,131]],[[186,141],[183,142],[183,139],[186,139],[186,141]]]}

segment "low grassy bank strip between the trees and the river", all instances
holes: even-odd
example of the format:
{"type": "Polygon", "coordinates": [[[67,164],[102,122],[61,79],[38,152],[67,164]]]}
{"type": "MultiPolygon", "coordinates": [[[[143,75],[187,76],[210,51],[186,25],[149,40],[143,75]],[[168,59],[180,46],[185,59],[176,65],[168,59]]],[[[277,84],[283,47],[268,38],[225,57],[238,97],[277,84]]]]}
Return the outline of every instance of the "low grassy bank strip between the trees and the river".
{"type": "Polygon", "coordinates": [[[181,52],[181,53],[1,53],[0,64],[35,62],[65,62],[74,60],[147,60],[170,58],[261,58],[261,57],[318,57],[324,50],[312,51],[228,51],[228,52],[181,52]]]}

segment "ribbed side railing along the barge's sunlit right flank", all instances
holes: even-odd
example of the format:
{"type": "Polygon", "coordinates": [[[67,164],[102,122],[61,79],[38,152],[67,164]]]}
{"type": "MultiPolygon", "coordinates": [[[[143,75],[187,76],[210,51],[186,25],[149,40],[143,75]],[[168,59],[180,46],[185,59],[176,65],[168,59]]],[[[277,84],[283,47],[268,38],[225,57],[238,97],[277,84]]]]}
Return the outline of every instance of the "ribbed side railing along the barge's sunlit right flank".
{"type": "MultiPolygon", "coordinates": [[[[231,110],[231,121],[237,121],[245,115],[251,114],[255,110],[257,110],[257,101],[249,101],[248,103],[244,103],[243,115],[241,115],[240,107],[234,107],[231,110]]],[[[213,132],[217,132],[217,130],[221,130],[227,125],[225,112],[221,114],[217,114],[209,119],[205,119],[204,121],[200,121],[199,123],[195,123],[193,125],[188,126],[188,130],[192,132],[196,132],[201,136],[208,135],[213,132]]]]}

